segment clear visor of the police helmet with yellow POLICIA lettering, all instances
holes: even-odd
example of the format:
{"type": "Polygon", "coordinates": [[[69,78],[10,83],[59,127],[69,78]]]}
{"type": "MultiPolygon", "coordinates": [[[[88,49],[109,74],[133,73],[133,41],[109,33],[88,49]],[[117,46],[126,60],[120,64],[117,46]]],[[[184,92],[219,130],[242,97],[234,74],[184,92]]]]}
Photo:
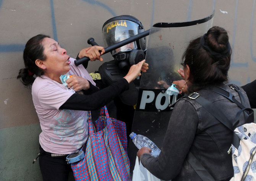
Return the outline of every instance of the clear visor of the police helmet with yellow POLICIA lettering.
{"type": "MultiPolygon", "coordinates": [[[[106,24],[102,28],[102,36],[105,47],[117,44],[125,39],[128,39],[138,34],[138,24],[129,20],[117,20],[106,24]]],[[[113,50],[111,53],[114,55],[118,52],[126,52],[137,48],[136,41],[123,47],[113,50]]]]}

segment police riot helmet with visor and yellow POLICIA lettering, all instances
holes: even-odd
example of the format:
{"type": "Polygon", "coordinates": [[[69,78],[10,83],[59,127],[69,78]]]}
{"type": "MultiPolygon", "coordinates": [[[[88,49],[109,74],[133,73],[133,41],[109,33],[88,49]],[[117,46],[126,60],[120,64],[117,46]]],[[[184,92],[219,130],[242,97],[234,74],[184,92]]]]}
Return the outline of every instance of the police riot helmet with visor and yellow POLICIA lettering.
{"type": "MultiPolygon", "coordinates": [[[[117,44],[134,35],[144,32],[141,22],[130,15],[110,18],[102,27],[102,37],[105,47],[117,44]]],[[[129,52],[133,49],[146,50],[146,37],[143,37],[111,52],[112,56],[120,52],[129,52]]]]}

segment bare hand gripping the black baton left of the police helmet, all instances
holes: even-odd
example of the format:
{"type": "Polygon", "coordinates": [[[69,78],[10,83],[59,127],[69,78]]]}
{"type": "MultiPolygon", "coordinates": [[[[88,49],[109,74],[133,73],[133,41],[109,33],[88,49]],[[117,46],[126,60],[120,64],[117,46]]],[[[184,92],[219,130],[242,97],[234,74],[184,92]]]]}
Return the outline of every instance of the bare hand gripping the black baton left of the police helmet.
{"type": "Polygon", "coordinates": [[[95,61],[95,60],[103,61],[103,58],[100,57],[100,55],[102,55],[103,53],[105,53],[104,47],[94,45],[92,47],[87,47],[81,50],[78,54],[78,57],[79,58],[89,57],[91,61],[95,61]],[[101,52],[99,52],[99,50],[101,52]]]}

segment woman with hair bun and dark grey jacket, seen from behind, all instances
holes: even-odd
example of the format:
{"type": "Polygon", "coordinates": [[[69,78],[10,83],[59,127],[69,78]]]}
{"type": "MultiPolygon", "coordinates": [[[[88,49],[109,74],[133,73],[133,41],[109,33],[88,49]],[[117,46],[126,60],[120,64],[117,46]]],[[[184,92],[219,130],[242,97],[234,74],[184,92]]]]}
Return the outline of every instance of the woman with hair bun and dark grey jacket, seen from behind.
{"type": "MultiPolygon", "coordinates": [[[[184,82],[177,85],[187,94],[197,92],[233,120],[240,108],[224,96],[207,89],[219,86],[231,92],[241,102],[238,92],[225,84],[228,81],[231,48],[227,31],[218,26],[210,28],[202,37],[191,40],[183,54],[184,82]]],[[[173,81],[175,84],[175,81],[173,81]]],[[[244,106],[250,107],[248,97],[244,106]]],[[[204,166],[215,180],[229,180],[233,176],[232,154],[228,150],[233,134],[198,102],[184,96],[174,105],[159,157],[150,155],[150,149],[141,148],[137,155],[144,167],[163,180],[202,180],[188,163],[188,153],[204,166]]],[[[244,124],[244,118],[240,123],[244,124]]]]}

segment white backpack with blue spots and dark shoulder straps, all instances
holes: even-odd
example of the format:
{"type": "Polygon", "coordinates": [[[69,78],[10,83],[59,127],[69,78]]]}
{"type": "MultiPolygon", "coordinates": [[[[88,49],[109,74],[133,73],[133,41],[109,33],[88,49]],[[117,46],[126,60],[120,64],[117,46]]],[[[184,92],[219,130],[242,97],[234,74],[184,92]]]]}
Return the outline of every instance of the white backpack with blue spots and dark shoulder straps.
{"type": "MultiPolygon", "coordinates": [[[[241,108],[233,121],[229,121],[219,108],[214,107],[210,101],[204,99],[197,92],[188,95],[188,97],[201,104],[209,113],[233,132],[233,142],[230,149],[227,150],[228,154],[232,152],[232,164],[234,170],[234,176],[230,181],[251,181],[253,178],[256,178],[256,156],[254,156],[256,153],[256,124],[253,123],[254,112],[251,108],[246,108],[243,105],[244,97],[237,87],[230,86],[230,88],[238,92],[241,103],[235,99],[232,93],[221,87],[213,87],[208,90],[223,95],[241,108]],[[239,118],[242,114],[245,116],[246,123],[237,127],[239,118]]],[[[187,160],[202,180],[214,180],[210,173],[191,152],[189,152],[187,160]]]]}

